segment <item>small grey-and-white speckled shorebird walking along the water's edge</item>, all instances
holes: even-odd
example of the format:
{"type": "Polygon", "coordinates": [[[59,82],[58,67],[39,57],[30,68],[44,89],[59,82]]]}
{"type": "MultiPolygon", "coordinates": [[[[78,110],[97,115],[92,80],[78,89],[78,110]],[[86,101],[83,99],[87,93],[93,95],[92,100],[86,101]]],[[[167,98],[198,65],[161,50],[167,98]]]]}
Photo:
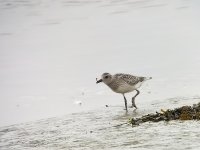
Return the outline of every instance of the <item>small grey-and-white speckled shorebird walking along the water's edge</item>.
{"type": "Polygon", "coordinates": [[[112,91],[116,93],[121,93],[124,97],[125,109],[127,111],[127,100],[125,97],[125,93],[129,93],[134,90],[137,92],[136,95],[132,97],[132,107],[135,107],[137,109],[137,106],[135,105],[135,98],[140,94],[138,88],[142,85],[144,81],[149,79],[152,79],[152,77],[139,77],[123,73],[118,73],[114,75],[111,75],[110,73],[103,73],[100,80],[96,79],[96,83],[103,82],[108,87],[110,87],[112,91]]]}

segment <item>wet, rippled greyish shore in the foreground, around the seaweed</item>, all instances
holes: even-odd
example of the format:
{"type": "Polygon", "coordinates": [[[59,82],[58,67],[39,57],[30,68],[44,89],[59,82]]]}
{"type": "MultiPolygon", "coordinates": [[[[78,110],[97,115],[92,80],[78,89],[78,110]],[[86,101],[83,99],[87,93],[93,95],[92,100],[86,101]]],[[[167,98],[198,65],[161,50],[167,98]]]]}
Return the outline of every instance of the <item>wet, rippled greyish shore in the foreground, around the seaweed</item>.
{"type": "MultiPolygon", "coordinates": [[[[199,98],[176,99],[188,100],[195,103],[199,98]]],[[[199,149],[199,121],[144,123],[133,128],[128,124],[129,118],[154,112],[156,107],[129,109],[128,114],[121,106],[105,107],[2,127],[0,149],[199,149]]]]}

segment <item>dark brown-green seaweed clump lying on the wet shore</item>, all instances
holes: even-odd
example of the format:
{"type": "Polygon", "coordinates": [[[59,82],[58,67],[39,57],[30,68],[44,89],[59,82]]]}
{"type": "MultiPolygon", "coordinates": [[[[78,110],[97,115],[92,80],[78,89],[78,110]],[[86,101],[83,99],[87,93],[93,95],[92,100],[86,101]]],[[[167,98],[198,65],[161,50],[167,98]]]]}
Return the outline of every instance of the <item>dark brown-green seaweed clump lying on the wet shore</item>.
{"type": "Polygon", "coordinates": [[[132,118],[130,119],[130,123],[134,126],[149,121],[159,122],[170,120],[200,120],[200,103],[193,106],[182,106],[173,110],[161,110],[161,112],[144,115],[140,118],[132,118]]]}

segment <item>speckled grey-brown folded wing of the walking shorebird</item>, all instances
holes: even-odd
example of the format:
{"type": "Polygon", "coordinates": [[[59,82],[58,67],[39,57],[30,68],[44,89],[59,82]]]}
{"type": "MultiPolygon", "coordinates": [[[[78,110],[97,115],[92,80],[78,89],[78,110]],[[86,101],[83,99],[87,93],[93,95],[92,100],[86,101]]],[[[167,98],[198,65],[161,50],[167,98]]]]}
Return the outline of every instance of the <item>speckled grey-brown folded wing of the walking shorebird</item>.
{"type": "Polygon", "coordinates": [[[138,77],[138,76],[133,76],[133,75],[129,75],[129,74],[115,74],[116,78],[118,79],[122,79],[123,81],[125,81],[127,84],[133,86],[136,85],[138,82],[142,82],[145,80],[145,77],[138,77]]]}

